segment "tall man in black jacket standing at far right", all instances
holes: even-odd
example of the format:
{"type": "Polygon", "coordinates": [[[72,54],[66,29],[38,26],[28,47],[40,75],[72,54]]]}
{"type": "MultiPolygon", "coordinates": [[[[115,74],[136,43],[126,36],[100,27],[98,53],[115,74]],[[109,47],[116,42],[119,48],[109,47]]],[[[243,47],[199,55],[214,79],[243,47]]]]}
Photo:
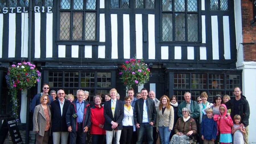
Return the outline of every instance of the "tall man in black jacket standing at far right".
{"type": "Polygon", "coordinates": [[[241,95],[242,91],[240,87],[234,88],[234,97],[225,103],[227,109],[231,109],[230,116],[233,119],[236,114],[241,116],[241,127],[245,127],[246,134],[243,135],[243,140],[245,144],[248,144],[248,132],[249,132],[249,117],[250,117],[250,107],[245,96],[241,95]]]}

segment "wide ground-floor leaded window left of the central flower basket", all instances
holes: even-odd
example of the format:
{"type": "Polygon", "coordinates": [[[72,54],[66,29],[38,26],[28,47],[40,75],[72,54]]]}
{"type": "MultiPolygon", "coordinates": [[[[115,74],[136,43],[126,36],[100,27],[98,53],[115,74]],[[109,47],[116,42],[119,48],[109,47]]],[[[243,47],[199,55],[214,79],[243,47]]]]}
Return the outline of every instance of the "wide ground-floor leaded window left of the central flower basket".
{"type": "Polygon", "coordinates": [[[112,72],[98,71],[49,71],[48,84],[50,89],[64,89],[65,94],[76,97],[78,89],[89,91],[88,101],[93,100],[97,93],[106,94],[112,88],[112,72]]]}

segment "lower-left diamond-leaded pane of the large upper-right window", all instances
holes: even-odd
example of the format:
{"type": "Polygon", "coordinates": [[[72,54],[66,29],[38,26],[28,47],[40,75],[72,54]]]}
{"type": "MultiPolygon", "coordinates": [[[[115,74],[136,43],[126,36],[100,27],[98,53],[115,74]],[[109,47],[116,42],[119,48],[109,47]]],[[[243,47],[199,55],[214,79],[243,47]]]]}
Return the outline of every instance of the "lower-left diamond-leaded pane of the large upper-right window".
{"type": "Polygon", "coordinates": [[[163,13],[162,14],[162,37],[163,41],[172,41],[173,40],[173,22],[172,14],[163,13]]]}

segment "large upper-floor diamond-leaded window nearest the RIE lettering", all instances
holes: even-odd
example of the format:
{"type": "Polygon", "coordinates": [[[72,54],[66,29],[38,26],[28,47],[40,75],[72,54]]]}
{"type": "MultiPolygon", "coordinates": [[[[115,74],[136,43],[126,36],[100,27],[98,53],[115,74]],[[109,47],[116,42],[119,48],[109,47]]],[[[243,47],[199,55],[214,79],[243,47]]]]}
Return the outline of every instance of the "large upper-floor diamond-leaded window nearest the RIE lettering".
{"type": "Polygon", "coordinates": [[[96,0],[61,0],[59,40],[96,40],[96,0]]]}

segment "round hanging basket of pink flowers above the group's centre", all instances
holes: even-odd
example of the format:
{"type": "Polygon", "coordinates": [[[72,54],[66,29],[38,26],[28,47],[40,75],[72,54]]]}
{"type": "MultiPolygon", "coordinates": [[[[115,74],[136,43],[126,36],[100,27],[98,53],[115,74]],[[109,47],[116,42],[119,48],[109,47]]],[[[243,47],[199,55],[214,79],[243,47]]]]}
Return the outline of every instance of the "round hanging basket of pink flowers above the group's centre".
{"type": "Polygon", "coordinates": [[[146,84],[149,81],[150,69],[142,60],[130,59],[123,63],[119,72],[120,79],[127,87],[134,87],[146,84]]]}

